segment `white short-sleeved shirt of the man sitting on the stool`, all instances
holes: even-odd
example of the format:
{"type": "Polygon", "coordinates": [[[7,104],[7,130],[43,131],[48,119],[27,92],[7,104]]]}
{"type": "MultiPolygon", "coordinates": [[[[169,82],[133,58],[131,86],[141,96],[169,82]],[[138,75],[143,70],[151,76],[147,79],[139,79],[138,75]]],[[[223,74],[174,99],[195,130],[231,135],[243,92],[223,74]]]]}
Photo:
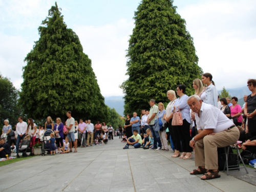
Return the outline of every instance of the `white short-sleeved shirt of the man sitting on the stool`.
{"type": "Polygon", "coordinates": [[[233,125],[227,116],[211,104],[202,102],[200,117],[195,113],[197,130],[214,129],[214,133],[219,133],[233,125]]]}

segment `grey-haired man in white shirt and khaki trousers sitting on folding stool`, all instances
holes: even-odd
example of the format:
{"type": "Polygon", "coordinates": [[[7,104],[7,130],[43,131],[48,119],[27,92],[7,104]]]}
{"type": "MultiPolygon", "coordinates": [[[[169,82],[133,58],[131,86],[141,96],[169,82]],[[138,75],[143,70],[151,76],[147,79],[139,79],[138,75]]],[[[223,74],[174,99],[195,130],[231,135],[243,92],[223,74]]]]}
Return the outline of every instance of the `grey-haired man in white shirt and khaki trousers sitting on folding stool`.
{"type": "Polygon", "coordinates": [[[198,135],[189,142],[195,148],[198,166],[190,175],[204,174],[202,180],[219,178],[217,148],[236,143],[239,130],[220,109],[203,103],[199,96],[188,97],[187,104],[195,113],[198,130],[198,135]]]}

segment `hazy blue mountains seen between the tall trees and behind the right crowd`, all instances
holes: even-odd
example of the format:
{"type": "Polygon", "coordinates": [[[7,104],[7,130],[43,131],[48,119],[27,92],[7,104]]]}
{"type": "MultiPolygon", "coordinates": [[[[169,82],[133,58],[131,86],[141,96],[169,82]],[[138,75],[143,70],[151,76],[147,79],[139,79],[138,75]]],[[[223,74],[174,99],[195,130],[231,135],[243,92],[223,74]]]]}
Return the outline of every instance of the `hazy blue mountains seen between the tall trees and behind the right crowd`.
{"type": "MultiPolygon", "coordinates": [[[[236,89],[226,89],[228,93],[231,95],[231,97],[236,96],[238,98],[238,103],[241,105],[241,107],[244,104],[244,95],[250,95],[251,92],[249,89],[245,87],[236,88],[236,89]]],[[[221,93],[221,90],[218,91],[221,93]]],[[[110,96],[105,97],[105,104],[108,105],[110,108],[115,108],[116,112],[123,116],[124,111],[124,99],[123,96],[110,96]]]]}

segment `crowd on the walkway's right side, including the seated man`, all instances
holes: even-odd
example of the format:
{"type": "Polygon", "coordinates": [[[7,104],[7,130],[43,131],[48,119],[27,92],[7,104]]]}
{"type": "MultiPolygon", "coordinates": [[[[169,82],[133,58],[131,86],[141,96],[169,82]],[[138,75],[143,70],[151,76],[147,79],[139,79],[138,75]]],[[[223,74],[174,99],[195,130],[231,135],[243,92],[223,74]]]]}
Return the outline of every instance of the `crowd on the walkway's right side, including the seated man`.
{"type": "Polygon", "coordinates": [[[241,108],[237,97],[219,98],[210,73],[193,81],[192,96],[187,96],[186,86],[180,84],[176,87],[178,98],[174,90],[167,91],[170,102],[166,110],[163,103],[156,105],[151,99],[150,110],[142,110],[140,117],[136,112],[133,117],[127,114],[124,125],[127,142],[123,149],[133,145],[164,152],[171,150],[173,158],[183,160],[193,158],[194,151],[198,168],[190,174],[204,174],[203,180],[219,178],[217,147],[241,140],[243,150],[256,154],[256,79],[249,79],[247,87],[251,94],[244,96],[245,104],[241,108]],[[180,124],[172,123],[177,112],[182,117],[180,124]]]}

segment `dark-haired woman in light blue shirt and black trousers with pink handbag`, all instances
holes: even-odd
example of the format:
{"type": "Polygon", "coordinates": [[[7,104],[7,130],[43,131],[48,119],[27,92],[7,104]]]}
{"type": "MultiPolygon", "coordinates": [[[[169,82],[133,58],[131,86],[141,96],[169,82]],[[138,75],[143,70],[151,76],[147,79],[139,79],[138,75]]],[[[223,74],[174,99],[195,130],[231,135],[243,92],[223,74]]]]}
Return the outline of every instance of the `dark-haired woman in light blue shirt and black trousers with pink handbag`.
{"type": "Polygon", "coordinates": [[[176,152],[172,157],[179,157],[180,151],[182,150],[182,155],[180,159],[192,159],[193,149],[189,146],[190,138],[190,109],[187,104],[188,96],[185,94],[186,86],[181,84],[176,87],[177,95],[179,96],[176,99],[174,106],[172,108],[173,112],[173,121],[172,121],[172,129],[174,132],[174,139],[176,143],[176,152]],[[178,110],[178,112],[177,112],[178,110]],[[181,148],[182,143],[182,148],[181,148]]]}

